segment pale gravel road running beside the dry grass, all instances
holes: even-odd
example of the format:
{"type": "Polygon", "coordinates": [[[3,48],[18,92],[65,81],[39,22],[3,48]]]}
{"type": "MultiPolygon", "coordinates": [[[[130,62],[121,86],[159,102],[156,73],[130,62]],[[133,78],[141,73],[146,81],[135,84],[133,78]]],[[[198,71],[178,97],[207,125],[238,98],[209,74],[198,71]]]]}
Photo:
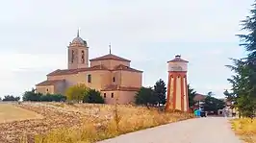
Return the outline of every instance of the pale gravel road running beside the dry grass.
{"type": "Polygon", "coordinates": [[[242,143],[228,119],[207,117],[136,131],[98,143],[242,143]]]}

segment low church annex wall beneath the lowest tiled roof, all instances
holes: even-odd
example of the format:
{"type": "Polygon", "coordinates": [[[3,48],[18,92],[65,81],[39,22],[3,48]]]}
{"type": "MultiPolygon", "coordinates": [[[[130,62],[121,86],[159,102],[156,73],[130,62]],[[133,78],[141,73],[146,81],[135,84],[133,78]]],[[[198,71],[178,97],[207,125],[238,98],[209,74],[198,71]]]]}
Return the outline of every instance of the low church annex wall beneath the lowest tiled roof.
{"type": "Polygon", "coordinates": [[[117,104],[132,104],[135,102],[135,95],[137,91],[103,91],[102,97],[106,104],[114,105],[117,104]],[[113,95],[113,96],[112,96],[113,95]],[[117,101],[116,101],[117,99],[117,101]]]}

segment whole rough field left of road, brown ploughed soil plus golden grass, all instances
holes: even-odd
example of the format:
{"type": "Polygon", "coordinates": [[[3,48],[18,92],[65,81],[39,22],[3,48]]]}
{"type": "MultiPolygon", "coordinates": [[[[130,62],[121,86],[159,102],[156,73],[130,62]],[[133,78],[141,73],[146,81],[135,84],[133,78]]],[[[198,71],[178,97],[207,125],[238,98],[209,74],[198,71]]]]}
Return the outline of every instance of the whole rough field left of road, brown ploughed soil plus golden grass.
{"type": "Polygon", "coordinates": [[[23,103],[15,106],[35,111],[44,118],[0,124],[0,142],[95,142],[192,118],[191,114],[121,105],[23,103]]]}

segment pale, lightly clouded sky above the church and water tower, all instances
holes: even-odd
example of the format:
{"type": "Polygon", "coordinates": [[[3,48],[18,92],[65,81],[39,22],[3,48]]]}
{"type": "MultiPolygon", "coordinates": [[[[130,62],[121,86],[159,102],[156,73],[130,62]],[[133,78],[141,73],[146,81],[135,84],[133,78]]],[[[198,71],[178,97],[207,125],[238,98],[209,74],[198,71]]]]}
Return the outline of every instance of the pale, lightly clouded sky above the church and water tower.
{"type": "Polygon", "coordinates": [[[46,74],[67,68],[67,45],[80,36],[90,59],[109,52],[143,71],[142,85],[167,81],[167,60],[189,60],[201,94],[230,88],[229,58],[242,58],[237,34],[253,0],[8,0],[0,5],[0,97],[21,96],[46,74]]]}

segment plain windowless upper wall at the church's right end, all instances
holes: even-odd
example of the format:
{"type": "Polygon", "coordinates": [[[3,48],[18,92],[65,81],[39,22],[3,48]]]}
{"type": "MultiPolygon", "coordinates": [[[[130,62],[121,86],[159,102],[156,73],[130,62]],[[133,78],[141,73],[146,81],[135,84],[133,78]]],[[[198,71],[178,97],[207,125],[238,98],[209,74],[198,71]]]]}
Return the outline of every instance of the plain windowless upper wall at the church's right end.
{"type": "Polygon", "coordinates": [[[142,73],[131,71],[118,71],[121,86],[141,87],[142,73]]]}

